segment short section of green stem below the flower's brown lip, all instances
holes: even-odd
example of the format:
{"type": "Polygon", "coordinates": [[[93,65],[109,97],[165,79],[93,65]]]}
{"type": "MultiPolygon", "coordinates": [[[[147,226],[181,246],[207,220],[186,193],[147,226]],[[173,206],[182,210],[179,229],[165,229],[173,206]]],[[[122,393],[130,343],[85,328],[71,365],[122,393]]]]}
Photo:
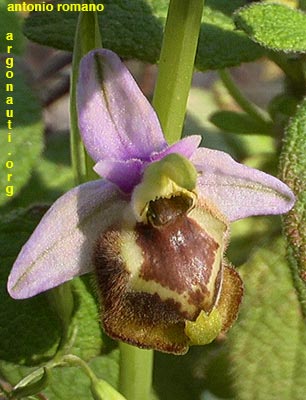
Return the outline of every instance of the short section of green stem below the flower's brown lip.
{"type": "Polygon", "coordinates": [[[119,390],[127,400],[151,398],[153,351],[119,343],[119,390]]]}

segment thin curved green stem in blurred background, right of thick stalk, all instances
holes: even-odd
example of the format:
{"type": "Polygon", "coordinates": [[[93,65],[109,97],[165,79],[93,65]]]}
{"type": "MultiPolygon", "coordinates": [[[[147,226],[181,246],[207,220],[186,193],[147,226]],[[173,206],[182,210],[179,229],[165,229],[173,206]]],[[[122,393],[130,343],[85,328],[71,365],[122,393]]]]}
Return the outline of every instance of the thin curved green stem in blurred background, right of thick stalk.
{"type": "Polygon", "coordinates": [[[261,110],[259,107],[253,104],[241,93],[241,91],[233,81],[230,73],[225,69],[219,70],[218,72],[220,79],[228,90],[229,94],[242,108],[242,110],[253,117],[255,120],[267,125],[269,128],[272,127],[272,120],[269,115],[264,110],[261,110]]]}

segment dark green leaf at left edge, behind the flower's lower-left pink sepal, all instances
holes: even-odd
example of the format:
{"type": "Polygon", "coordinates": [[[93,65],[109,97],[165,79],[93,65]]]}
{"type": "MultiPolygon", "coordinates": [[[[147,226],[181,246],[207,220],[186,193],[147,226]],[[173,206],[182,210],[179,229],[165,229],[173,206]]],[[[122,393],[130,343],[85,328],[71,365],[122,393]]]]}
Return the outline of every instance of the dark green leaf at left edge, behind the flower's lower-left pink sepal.
{"type": "MultiPolygon", "coordinates": [[[[6,291],[7,277],[21,246],[45,213],[45,207],[18,211],[0,222],[0,359],[35,365],[51,358],[60,340],[60,323],[45,295],[16,301],[6,291]]],[[[0,364],[0,372],[3,372],[0,364]]]]}

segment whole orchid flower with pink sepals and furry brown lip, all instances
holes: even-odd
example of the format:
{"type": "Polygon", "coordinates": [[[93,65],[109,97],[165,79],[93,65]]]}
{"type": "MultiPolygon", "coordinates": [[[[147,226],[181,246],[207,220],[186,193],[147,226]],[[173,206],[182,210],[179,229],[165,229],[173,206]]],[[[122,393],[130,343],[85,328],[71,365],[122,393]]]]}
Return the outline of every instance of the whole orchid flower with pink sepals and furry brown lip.
{"type": "Polygon", "coordinates": [[[95,271],[111,337],[175,354],[205,344],[237,317],[243,287],[224,259],[229,224],[281,214],[294,195],[278,179],[199,148],[169,146],[119,57],[80,65],[79,128],[102,179],[60,197],[22,248],[8,291],[22,299],[95,271]]]}

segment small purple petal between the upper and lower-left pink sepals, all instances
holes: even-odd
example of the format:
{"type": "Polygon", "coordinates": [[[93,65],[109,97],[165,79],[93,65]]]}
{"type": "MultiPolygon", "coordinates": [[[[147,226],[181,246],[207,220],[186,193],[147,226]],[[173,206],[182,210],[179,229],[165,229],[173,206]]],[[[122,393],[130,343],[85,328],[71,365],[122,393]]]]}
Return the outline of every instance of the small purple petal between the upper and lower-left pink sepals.
{"type": "Polygon", "coordinates": [[[102,160],[94,166],[94,170],[122,191],[129,193],[140,182],[145,164],[139,159],[102,160]]]}

